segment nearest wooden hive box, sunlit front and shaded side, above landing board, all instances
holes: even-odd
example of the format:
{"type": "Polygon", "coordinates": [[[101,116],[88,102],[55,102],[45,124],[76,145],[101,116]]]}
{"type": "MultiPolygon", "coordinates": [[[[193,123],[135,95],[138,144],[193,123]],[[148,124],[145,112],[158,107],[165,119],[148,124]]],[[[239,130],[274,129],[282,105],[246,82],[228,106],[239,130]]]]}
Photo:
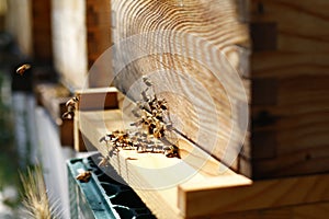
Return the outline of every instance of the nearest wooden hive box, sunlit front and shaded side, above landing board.
{"type": "Polygon", "coordinates": [[[114,82],[136,101],[148,74],[178,132],[237,173],[328,172],[328,7],[113,0],[114,82]]]}

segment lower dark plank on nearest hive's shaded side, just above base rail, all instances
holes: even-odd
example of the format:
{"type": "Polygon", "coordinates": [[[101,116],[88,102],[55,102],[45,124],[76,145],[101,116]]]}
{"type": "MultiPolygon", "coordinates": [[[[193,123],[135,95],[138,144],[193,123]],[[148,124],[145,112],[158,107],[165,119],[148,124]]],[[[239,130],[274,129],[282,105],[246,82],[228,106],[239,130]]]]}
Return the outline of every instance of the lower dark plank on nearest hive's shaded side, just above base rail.
{"type": "Polygon", "coordinates": [[[329,171],[328,82],[327,76],[300,74],[253,83],[253,178],[329,171]]]}

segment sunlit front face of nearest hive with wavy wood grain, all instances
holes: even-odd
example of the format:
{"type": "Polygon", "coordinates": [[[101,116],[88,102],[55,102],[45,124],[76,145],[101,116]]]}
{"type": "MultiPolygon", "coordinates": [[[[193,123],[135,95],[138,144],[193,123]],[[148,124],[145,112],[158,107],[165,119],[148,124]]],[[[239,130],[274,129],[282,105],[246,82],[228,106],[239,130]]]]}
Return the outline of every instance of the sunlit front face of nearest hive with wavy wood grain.
{"type": "Polygon", "coordinates": [[[177,130],[238,170],[250,89],[241,47],[249,35],[236,2],[129,0],[112,1],[112,10],[115,85],[137,101],[147,74],[177,130]]]}

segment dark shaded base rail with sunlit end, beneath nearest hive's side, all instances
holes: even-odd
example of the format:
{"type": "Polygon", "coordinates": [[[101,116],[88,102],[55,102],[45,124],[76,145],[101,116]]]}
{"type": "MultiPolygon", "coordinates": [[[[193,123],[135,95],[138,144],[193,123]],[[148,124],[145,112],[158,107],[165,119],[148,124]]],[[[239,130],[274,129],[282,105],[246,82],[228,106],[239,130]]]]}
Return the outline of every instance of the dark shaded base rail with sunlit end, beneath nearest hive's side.
{"type": "Polygon", "coordinates": [[[329,200],[329,174],[253,182],[251,185],[213,187],[184,184],[179,207],[186,218],[329,200]]]}

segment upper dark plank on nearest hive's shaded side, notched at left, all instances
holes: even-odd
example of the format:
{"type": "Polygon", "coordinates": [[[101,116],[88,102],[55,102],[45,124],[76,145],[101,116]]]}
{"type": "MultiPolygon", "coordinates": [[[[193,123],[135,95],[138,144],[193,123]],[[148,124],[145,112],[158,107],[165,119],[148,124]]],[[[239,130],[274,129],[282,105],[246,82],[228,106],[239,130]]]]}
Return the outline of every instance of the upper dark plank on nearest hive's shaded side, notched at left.
{"type": "Polygon", "coordinates": [[[329,8],[328,1],[250,2],[251,22],[274,22],[277,26],[277,49],[252,54],[253,76],[326,74],[329,38],[324,26],[329,24],[325,12],[329,8]]]}

